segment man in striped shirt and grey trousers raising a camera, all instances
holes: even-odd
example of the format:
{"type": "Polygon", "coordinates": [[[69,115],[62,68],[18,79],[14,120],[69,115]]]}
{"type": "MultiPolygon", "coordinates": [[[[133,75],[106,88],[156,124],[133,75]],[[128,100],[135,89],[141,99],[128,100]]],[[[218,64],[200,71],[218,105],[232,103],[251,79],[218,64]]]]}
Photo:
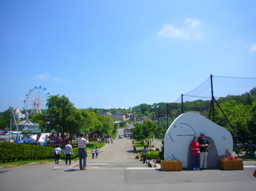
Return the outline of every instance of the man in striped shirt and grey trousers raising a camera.
{"type": "Polygon", "coordinates": [[[88,143],[89,143],[88,135],[85,135],[84,132],[81,132],[80,137],[77,139],[80,170],[88,170],[86,168],[86,161],[87,161],[86,145],[88,143]],[[82,160],[83,160],[83,164],[82,164],[82,160]]]}

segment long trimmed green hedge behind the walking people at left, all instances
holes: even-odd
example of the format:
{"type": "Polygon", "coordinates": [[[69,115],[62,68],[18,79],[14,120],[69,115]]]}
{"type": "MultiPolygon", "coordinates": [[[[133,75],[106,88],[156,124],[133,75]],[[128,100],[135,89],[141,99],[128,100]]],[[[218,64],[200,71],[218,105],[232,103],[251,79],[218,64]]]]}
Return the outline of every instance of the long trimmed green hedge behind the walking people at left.
{"type": "MultiPolygon", "coordinates": [[[[74,156],[78,157],[78,148],[73,149],[74,156]]],[[[54,148],[35,146],[29,144],[0,143],[0,162],[11,162],[19,160],[44,160],[54,158],[54,148]]],[[[60,159],[65,159],[64,150],[62,149],[60,159]]]]}

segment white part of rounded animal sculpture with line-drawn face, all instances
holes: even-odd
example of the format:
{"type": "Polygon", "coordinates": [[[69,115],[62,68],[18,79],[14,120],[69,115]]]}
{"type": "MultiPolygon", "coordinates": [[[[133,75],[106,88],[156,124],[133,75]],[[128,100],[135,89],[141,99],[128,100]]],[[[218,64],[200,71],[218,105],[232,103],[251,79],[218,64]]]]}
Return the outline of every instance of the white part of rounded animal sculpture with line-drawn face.
{"type": "Polygon", "coordinates": [[[202,132],[213,139],[219,156],[225,155],[226,149],[232,153],[233,139],[227,129],[200,114],[188,112],[179,115],[165,133],[165,159],[182,160],[182,168],[187,168],[189,144],[202,132]]]}

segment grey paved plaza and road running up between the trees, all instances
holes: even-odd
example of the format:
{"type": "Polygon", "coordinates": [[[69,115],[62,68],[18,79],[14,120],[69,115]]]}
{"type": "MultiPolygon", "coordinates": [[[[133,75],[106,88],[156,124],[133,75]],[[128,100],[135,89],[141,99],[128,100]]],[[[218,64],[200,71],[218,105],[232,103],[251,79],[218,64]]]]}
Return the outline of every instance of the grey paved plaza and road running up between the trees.
{"type": "Polygon", "coordinates": [[[0,190],[256,190],[255,162],[244,161],[239,171],[162,172],[135,159],[131,139],[116,139],[100,151],[98,159],[88,157],[86,171],[79,170],[78,161],[0,169],[0,190]]]}

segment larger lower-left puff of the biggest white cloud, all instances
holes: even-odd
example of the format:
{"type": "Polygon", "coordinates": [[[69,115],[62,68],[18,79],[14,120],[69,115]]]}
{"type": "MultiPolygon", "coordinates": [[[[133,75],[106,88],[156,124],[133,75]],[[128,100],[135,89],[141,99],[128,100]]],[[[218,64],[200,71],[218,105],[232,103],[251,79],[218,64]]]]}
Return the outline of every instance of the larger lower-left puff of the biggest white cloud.
{"type": "Polygon", "coordinates": [[[164,28],[160,32],[158,32],[158,35],[164,38],[187,39],[190,37],[190,35],[186,34],[183,30],[177,29],[170,24],[166,24],[164,28]]]}

